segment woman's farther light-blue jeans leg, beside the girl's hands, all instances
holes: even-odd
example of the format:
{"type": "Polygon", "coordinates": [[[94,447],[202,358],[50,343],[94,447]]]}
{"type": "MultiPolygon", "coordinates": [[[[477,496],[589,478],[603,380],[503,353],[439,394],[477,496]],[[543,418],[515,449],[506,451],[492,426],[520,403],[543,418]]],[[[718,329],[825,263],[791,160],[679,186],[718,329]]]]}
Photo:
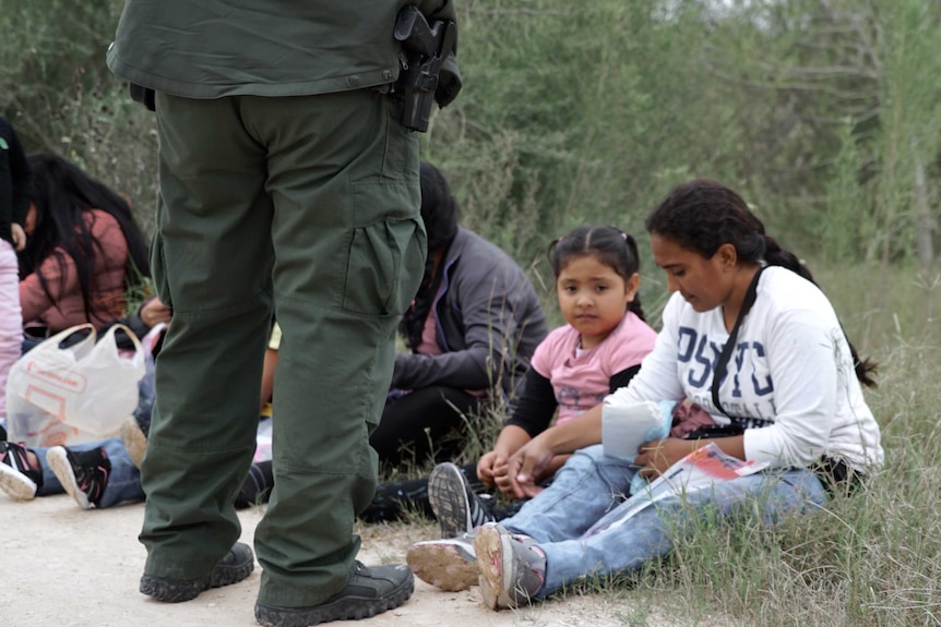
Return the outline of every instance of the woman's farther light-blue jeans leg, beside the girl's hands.
{"type": "Polygon", "coordinates": [[[623,502],[635,472],[627,460],[606,456],[600,444],[576,450],[549,487],[500,524],[539,542],[579,538],[623,502]]]}

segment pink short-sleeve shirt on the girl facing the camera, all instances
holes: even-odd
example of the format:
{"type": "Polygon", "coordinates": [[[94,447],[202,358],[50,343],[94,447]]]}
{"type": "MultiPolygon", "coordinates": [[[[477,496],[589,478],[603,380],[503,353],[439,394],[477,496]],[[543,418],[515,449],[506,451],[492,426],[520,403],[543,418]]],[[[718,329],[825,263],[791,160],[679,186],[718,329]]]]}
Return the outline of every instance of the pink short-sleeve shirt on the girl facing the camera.
{"type": "Polygon", "coordinates": [[[611,376],[639,365],[656,339],[656,331],[632,312],[591,350],[579,348],[582,336],[571,325],[549,333],[536,348],[532,366],[552,384],[559,403],[557,424],[600,403],[611,391],[611,376]]]}

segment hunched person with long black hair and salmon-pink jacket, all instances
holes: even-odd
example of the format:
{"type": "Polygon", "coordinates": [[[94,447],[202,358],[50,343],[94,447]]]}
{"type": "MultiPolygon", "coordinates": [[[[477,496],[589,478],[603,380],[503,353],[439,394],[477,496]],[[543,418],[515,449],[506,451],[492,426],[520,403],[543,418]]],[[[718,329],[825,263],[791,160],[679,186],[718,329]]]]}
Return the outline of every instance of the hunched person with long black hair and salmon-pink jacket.
{"type": "Polygon", "coordinates": [[[120,194],[51,153],[28,156],[33,196],[20,252],[23,322],[56,333],[124,315],[150,276],[147,243],[120,194]]]}

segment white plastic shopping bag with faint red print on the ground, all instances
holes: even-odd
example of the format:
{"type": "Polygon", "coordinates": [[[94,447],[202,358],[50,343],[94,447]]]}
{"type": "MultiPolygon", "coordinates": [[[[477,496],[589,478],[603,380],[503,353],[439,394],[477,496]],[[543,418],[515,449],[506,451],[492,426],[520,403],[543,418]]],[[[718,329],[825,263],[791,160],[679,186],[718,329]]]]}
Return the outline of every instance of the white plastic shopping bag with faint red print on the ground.
{"type": "Polygon", "coordinates": [[[65,329],[20,358],[7,382],[8,427],[11,442],[28,446],[79,444],[111,437],[138,406],[138,384],[146,364],[136,336],[114,325],[95,341],[94,326],[65,329]],[[68,348],[59,345],[88,329],[88,336],[68,348]],[[124,331],[134,345],[122,354],[115,340],[124,331]]]}

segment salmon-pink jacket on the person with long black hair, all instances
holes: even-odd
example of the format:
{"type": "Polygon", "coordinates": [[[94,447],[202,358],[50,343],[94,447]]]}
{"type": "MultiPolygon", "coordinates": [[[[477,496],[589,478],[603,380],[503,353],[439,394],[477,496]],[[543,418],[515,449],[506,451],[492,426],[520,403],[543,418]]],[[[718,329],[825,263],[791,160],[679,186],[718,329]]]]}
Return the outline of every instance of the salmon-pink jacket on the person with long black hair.
{"type": "Polygon", "coordinates": [[[85,220],[95,241],[95,267],[92,277],[91,319],[85,316],[82,289],[75,262],[64,255],[64,277],[55,255],[49,255],[34,272],[20,281],[20,305],[23,322],[40,322],[52,333],[85,322],[102,326],[124,314],[124,278],[128,263],[128,242],[121,226],[110,214],[100,209],[85,213],[85,220]],[[39,284],[38,273],[46,277],[51,299],[39,284]],[[61,286],[61,287],[60,287],[61,286]]]}

